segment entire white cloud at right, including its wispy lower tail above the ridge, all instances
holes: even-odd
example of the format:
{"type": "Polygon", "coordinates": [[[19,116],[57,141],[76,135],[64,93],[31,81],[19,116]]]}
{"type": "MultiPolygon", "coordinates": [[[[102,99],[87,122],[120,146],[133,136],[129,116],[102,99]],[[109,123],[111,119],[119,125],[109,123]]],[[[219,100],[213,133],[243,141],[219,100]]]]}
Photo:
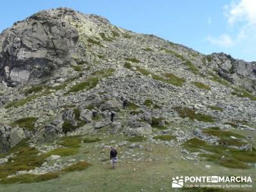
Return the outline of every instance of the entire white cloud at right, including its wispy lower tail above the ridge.
{"type": "Polygon", "coordinates": [[[224,10],[229,31],[223,31],[223,34],[217,37],[209,35],[206,40],[220,47],[234,47],[241,44],[255,46],[256,0],[232,1],[224,6],[224,10]]]}

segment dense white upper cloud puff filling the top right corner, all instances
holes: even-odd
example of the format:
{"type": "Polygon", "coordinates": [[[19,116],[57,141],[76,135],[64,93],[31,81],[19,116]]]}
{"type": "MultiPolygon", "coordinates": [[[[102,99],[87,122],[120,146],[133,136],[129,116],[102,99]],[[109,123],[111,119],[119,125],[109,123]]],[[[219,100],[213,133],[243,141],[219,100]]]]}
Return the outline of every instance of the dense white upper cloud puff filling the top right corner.
{"type": "Polygon", "coordinates": [[[255,0],[239,0],[232,1],[225,6],[225,15],[228,18],[228,24],[236,24],[237,22],[246,22],[248,25],[256,24],[256,1],[255,0]]]}

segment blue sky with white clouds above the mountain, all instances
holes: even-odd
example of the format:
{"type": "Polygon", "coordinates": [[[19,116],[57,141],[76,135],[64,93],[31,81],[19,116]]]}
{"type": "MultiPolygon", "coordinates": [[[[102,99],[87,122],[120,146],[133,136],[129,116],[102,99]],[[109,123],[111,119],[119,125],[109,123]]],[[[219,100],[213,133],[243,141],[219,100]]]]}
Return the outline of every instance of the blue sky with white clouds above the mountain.
{"type": "Polygon", "coordinates": [[[115,26],[154,34],[204,54],[256,61],[256,0],[1,1],[0,31],[33,13],[60,6],[94,13],[115,26]]]}

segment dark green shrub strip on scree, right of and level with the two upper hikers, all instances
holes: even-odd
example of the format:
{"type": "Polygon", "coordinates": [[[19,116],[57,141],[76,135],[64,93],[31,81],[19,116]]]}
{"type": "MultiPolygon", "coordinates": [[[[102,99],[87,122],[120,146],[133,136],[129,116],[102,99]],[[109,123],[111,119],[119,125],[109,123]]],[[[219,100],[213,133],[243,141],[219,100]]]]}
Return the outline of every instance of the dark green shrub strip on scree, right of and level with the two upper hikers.
{"type": "Polygon", "coordinates": [[[196,113],[196,111],[194,111],[193,109],[180,108],[180,107],[177,107],[174,109],[179,113],[179,115],[182,118],[188,117],[190,119],[196,119],[202,122],[214,122],[214,118],[212,116],[204,115],[202,113],[196,113]]]}

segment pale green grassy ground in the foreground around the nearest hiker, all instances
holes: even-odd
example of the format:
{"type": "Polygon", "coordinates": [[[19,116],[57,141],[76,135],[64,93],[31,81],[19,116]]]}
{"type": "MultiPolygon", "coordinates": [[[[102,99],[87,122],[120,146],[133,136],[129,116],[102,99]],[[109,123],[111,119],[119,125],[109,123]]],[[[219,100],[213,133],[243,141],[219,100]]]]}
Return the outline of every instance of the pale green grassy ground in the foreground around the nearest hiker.
{"type": "MultiPolygon", "coordinates": [[[[118,147],[119,162],[116,170],[111,169],[109,163],[109,149],[95,147],[99,143],[115,143],[127,140],[125,136],[109,135],[103,136],[98,143],[84,143],[79,154],[65,159],[84,159],[92,166],[81,172],[72,172],[61,175],[58,179],[32,184],[0,185],[0,191],[172,191],[170,180],[176,175],[237,175],[238,170],[223,168],[208,161],[198,162],[180,160],[180,148],[168,147],[163,144],[152,144],[140,142],[141,145],[152,148],[152,151],[134,149],[132,154],[143,153],[143,160],[133,161],[141,155],[130,158],[122,158],[127,147],[118,147]],[[95,149],[95,150],[94,150],[95,149]],[[95,156],[93,156],[95,154],[95,156]],[[106,159],[106,161],[102,161],[106,159]],[[153,161],[149,161],[153,159],[153,161]],[[211,168],[205,168],[210,164],[211,168]],[[134,171],[135,169],[135,171],[134,171]],[[214,171],[213,171],[214,170],[214,171]]],[[[128,143],[129,145],[129,143],[128,143]]],[[[239,170],[238,175],[254,175],[255,168],[250,170],[239,170]]],[[[254,183],[255,187],[255,183],[254,183]]]]}

